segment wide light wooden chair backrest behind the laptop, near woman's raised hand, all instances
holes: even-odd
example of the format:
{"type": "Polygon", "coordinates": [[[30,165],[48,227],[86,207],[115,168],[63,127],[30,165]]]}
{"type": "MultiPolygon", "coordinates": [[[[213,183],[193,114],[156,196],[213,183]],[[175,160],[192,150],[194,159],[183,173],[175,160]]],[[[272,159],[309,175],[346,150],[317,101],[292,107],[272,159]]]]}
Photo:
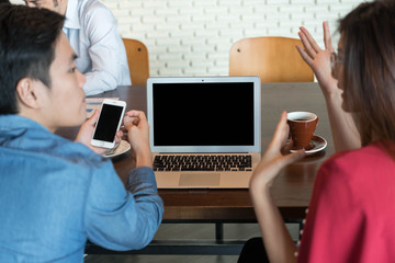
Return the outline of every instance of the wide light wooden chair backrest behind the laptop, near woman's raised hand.
{"type": "Polygon", "coordinates": [[[308,82],[314,72],[296,49],[302,42],[290,37],[251,37],[230,48],[229,76],[259,76],[262,82],[308,82]]]}

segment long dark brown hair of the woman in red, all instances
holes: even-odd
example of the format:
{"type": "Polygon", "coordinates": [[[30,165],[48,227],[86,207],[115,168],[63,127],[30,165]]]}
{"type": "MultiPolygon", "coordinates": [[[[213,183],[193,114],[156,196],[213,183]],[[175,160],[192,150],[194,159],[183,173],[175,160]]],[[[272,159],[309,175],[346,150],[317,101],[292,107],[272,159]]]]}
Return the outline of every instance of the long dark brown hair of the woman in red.
{"type": "Polygon", "coordinates": [[[345,105],[357,113],[362,146],[395,142],[395,1],[362,3],[340,20],[345,105]]]}

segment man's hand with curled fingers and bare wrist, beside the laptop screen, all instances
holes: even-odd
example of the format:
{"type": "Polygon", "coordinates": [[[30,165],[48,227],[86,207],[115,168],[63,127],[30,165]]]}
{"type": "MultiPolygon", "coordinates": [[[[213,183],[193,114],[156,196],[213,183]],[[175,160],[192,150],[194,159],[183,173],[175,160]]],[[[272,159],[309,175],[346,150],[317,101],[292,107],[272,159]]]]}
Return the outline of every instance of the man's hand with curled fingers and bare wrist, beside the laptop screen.
{"type": "Polygon", "coordinates": [[[153,167],[151,151],[149,148],[149,125],[144,112],[129,111],[123,119],[127,130],[127,140],[136,158],[136,167],[153,167]]]}

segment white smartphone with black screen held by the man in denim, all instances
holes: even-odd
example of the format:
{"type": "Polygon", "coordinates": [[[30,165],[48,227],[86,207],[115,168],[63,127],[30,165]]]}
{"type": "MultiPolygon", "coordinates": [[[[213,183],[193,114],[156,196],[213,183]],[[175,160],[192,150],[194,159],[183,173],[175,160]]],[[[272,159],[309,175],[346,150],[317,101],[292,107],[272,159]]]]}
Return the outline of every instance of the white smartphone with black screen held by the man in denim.
{"type": "Polygon", "coordinates": [[[103,101],[99,119],[93,132],[91,145],[111,149],[115,146],[115,133],[120,129],[125,114],[126,102],[109,100],[103,101]]]}

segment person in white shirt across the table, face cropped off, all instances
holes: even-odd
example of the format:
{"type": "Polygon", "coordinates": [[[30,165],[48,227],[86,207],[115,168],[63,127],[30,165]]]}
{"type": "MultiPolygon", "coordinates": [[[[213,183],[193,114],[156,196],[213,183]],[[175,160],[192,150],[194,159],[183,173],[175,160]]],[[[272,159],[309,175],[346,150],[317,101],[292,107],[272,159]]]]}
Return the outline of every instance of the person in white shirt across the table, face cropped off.
{"type": "Polygon", "coordinates": [[[98,0],[25,0],[66,16],[63,27],[77,54],[77,68],[87,78],[83,90],[94,95],[131,84],[125,46],[111,11],[98,0]]]}

